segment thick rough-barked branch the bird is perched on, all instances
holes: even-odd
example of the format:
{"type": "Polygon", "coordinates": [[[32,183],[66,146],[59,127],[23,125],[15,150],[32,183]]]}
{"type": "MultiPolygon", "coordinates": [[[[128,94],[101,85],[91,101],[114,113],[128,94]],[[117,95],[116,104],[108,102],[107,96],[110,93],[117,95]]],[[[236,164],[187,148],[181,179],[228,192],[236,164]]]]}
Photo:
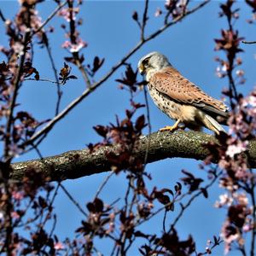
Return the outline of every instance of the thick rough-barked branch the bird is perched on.
{"type": "MultiPolygon", "coordinates": [[[[141,137],[137,143],[134,155],[144,160],[148,147],[147,163],[166,158],[182,157],[204,160],[209,154],[204,146],[208,142],[216,142],[215,137],[196,131],[154,132],[150,136],[141,137]]],[[[44,172],[51,180],[63,180],[84,177],[111,169],[106,152],[118,152],[118,145],[105,146],[90,154],[88,149],[68,151],[63,154],[50,156],[43,160],[30,160],[12,165],[11,178],[21,180],[26,171],[34,168],[44,172]]],[[[249,144],[248,154],[251,165],[256,167],[256,141],[249,144]]],[[[214,160],[212,160],[214,161],[214,160]]]]}

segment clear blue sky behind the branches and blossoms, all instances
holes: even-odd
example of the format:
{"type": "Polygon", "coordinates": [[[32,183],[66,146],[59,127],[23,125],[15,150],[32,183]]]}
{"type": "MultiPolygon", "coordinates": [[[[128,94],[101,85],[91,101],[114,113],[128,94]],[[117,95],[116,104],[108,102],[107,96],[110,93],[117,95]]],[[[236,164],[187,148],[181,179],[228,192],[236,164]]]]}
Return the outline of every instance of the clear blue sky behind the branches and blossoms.
{"type": "MultiPolygon", "coordinates": [[[[199,1],[194,1],[193,4],[197,3],[199,1]]],[[[143,55],[150,51],[160,51],[168,56],[172,65],[177,67],[185,77],[201,86],[201,89],[208,94],[220,98],[222,96],[221,90],[227,86],[227,80],[218,79],[215,75],[218,63],[214,61],[214,56],[221,54],[214,51],[213,38],[219,38],[220,29],[227,25],[226,20],[218,19],[219,3],[220,1],[212,1],[194,15],[189,15],[177,26],[171,27],[158,38],[145,44],[142,49],[131,56],[128,62],[131,62],[132,67],[137,67],[137,61],[143,55]]],[[[157,7],[163,7],[163,5],[164,1],[149,3],[148,15],[150,20],[148,21],[146,34],[153,32],[162,25],[162,19],[155,18],[154,12],[157,7]]],[[[255,27],[248,25],[246,22],[251,17],[250,10],[243,1],[238,1],[236,5],[241,8],[241,18],[236,21],[236,28],[239,29],[241,36],[247,40],[254,40],[255,27]]],[[[18,3],[16,1],[1,1],[0,8],[7,18],[12,18],[18,8],[18,3]]],[[[51,1],[39,5],[39,13],[44,18],[54,9],[55,4],[51,1]]],[[[85,61],[88,60],[91,63],[95,55],[101,58],[104,57],[106,60],[97,73],[96,79],[101,78],[113,64],[137,44],[139,30],[137,24],[131,20],[134,10],[137,10],[141,17],[143,1],[85,1],[82,6],[79,15],[83,18],[84,25],[80,27],[80,32],[82,38],[89,44],[83,50],[85,61]]],[[[52,20],[50,25],[55,26],[55,32],[49,36],[55,63],[59,69],[63,65],[63,56],[69,55],[66,50],[61,49],[61,44],[65,40],[64,33],[60,29],[61,22],[62,20],[59,17],[52,20]]],[[[0,25],[0,32],[3,35],[3,24],[0,25]]],[[[1,44],[7,45],[4,38],[1,39],[1,44]]],[[[241,85],[239,90],[247,94],[255,86],[255,47],[241,45],[241,48],[245,50],[241,57],[244,61],[242,68],[245,70],[247,83],[241,85]]],[[[38,69],[41,78],[54,78],[45,49],[37,47],[35,50],[34,67],[38,69]]],[[[81,102],[78,108],[75,108],[55,126],[39,148],[43,156],[61,154],[67,150],[84,148],[88,143],[96,143],[100,138],[96,135],[92,126],[108,125],[109,122],[114,121],[115,114],[118,114],[121,118],[125,116],[125,109],[129,108],[129,94],[125,90],[119,90],[118,83],[114,81],[121,77],[120,74],[123,71],[123,69],[119,69],[114,73],[111,79],[102,84],[84,102],[81,102]]],[[[73,67],[72,73],[78,76],[79,79],[69,81],[62,87],[61,108],[64,108],[84,90],[84,82],[76,67],[73,67]]],[[[53,117],[55,100],[55,85],[33,81],[24,84],[18,98],[21,103],[20,108],[26,109],[38,119],[53,117]]],[[[143,93],[138,95],[136,100],[137,102],[143,102],[143,93]]],[[[149,108],[152,131],[157,131],[165,125],[172,124],[172,120],[161,113],[151,100],[149,101],[149,108]]],[[[139,113],[145,113],[145,110],[140,110],[139,113]]],[[[147,132],[145,131],[145,133],[147,132]]],[[[37,154],[30,153],[15,160],[29,160],[37,157],[37,154]]],[[[198,168],[199,163],[200,161],[184,159],[161,160],[152,163],[147,166],[147,171],[153,177],[149,186],[173,188],[182,176],[182,169],[193,172],[195,176],[207,178],[207,174],[198,168]]],[[[93,199],[97,188],[107,175],[108,173],[103,173],[69,180],[65,181],[64,185],[81,206],[84,206],[85,202],[93,199]]],[[[102,192],[104,201],[111,203],[117,199],[124,192],[125,184],[124,175],[112,177],[108,186],[102,192]]],[[[213,207],[220,192],[218,185],[214,186],[209,190],[210,198],[208,200],[198,199],[184,214],[182,221],[177,224],[177,230],[181,237],[186,238],[189,234],[195,237],[199,251],[206,247],[207,239],[212,238],[213,235],[218,236],[221,223],[224,220],[225,211],[213,207]]],[[[59,216],[55,233],[63,239],[66,236],[72,236],[72,231],[78,227],[82,216],[61,191],[55,201],[55,212],[59,216]]],[[[172,220],[175,216],[176,212],[169,214],[168,220],[172,220]]],[[[144,228],[148,232],[154,233],[155,230],[160,230],[160,227],[160,218],[154,218],[153,222],[145,225],[144,228]]],[[[103,252],[106,250],[105,247],[107,248],[108,245],[104,244],[103,252]]],[[[130,255],[136,255],[136,252],[135,247],[131,250],[130,255]]],[[[222,254],[222,246],[212,253],[212,255],[222,254]]],[[[237,253],[231,253],[230,255],[237,255],[237,253]]]]}

